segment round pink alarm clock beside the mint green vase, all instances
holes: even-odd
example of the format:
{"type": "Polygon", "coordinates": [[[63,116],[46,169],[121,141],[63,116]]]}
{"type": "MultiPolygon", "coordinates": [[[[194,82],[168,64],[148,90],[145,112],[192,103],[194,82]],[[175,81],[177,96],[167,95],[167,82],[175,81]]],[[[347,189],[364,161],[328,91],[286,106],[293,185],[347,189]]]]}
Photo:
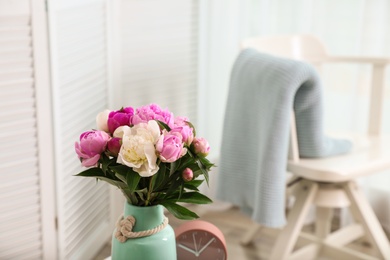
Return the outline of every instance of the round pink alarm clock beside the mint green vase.
{"type": "Polygon", "coordinates": [[[226,241],[215,225],[192,220],[175,229],[178,260],[226,260],[226,241]]]}

